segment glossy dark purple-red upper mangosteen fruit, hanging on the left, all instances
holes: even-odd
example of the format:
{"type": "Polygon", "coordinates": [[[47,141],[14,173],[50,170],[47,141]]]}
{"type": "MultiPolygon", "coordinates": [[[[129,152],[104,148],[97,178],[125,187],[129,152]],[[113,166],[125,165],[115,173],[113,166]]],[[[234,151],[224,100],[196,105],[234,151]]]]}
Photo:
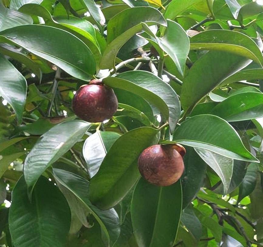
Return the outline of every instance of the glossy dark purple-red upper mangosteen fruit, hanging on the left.
{"type": "Polygon", "coordinates": [[[90,123],[111,118],[117,107],[118,100],[113,90],[97,79],[81,86],[72,100],[74,113],[90,123]]]}

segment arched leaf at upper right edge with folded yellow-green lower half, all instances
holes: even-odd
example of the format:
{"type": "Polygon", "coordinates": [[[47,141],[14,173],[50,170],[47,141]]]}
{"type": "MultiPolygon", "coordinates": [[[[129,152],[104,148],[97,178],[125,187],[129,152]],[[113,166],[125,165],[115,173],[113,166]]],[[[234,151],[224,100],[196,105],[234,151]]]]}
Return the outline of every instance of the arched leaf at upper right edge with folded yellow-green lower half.
{"type": "Polygon", "coordinates": [[[241,32],[207,30],[190,38],[191,49],[219,50],[244,56],[263,65],[263,56],[257,44],[241,32]]]}

